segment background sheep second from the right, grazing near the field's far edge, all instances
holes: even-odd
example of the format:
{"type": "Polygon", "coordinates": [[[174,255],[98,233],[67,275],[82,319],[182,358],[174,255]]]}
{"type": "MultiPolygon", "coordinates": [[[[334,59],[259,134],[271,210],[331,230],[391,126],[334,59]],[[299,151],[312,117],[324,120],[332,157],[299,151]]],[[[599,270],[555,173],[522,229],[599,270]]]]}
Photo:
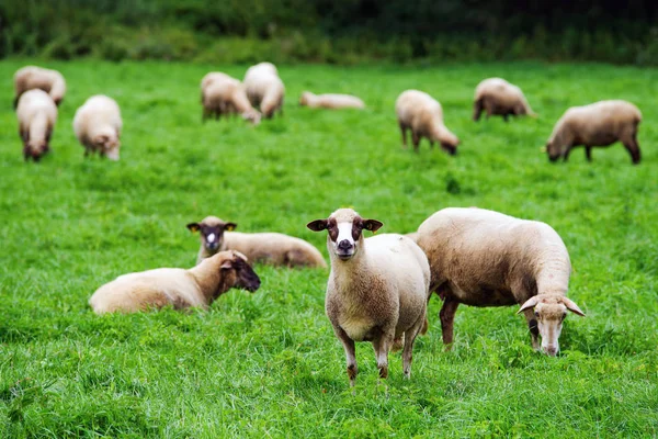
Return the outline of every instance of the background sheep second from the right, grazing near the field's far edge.
{"type": "Polygon", "coordinates": [[[530,108],[521,89],[502,78],[483,80],[475,89],[474,101],[473,120],[475,122],[479,121],[483,110],[487,112],[487,119],[491,115],[501,115],[506,122],[510,114],[537,116],[530,108]]]}

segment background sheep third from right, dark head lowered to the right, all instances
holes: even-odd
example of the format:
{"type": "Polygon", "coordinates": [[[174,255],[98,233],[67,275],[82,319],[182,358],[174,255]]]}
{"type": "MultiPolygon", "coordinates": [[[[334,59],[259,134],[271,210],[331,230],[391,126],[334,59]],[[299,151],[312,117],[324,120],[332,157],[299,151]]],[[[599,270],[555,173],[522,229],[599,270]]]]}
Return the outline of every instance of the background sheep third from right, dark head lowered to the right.
{"type": "Polygon", "coordinates": [[[417,153],[421,137],[427,137],[431,147],[434,147],[434,142],[439,142],[449,154],[457,153],[460,139],[445,127],[441,104],[428,93],[418,90],[402,92],[395,102],[395,112],[402,133],[404,148],[407,148],[407,130],[410,128],[417,153]]]}

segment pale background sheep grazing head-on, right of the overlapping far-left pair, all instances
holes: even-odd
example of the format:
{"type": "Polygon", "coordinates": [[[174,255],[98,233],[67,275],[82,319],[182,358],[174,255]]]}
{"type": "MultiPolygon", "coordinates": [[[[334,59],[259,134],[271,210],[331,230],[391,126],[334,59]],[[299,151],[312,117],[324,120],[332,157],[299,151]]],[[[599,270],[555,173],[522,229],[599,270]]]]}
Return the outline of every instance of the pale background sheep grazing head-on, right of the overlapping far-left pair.
{"type": "Polygon", "coordinates": [[[84,147],[84,157],[98,151],[101,157],[118,160],[123,122],[114,99],[92,95],[76,111],[73,132],[84,147]]]}

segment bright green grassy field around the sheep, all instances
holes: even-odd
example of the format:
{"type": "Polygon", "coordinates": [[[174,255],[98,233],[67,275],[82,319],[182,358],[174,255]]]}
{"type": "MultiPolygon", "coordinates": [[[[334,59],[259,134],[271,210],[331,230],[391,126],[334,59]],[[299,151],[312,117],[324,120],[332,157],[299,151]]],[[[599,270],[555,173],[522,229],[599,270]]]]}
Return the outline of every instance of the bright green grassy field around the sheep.
{"type": "Polygon", "coordinates": [[[48,63],[68,81],[53,154],[24,164],[0,63],[0,437],[656,437],[658,435],[658,70],[603,65],[280,67],[285,115],[253,128],[201,124],[198,82],[247,66],[48,63]],[[470,120],[490,76],[520,85],[537,120],[470,120]],[[444,106],[462,140],[450,157],[400,148],[394,102],[418,88],[444,106]],[[353,92],[364,112],[297,105],[305,89],[353,92]],[[84,160],[75,110],[91,94],[122,106],[120,162],[84,160]],[[549,164],[540,147],[570,105],[621,98],[644,114],[643,164],[621,145],[549,164]],[[574,264],[561,353],[535,353],[514,307],[463,306],[445,352],[430,331],[389,395],[360,344],[355,395],[324,313],[328,271],[257,267],[254,294],[231,291],[209,312],[94,315],[87,301],[116,275],[191,267],[185,224],[215,214],[241,232],[308,239],[354,206],[406,233],[445,206],[551,224],[574,264]]]}

